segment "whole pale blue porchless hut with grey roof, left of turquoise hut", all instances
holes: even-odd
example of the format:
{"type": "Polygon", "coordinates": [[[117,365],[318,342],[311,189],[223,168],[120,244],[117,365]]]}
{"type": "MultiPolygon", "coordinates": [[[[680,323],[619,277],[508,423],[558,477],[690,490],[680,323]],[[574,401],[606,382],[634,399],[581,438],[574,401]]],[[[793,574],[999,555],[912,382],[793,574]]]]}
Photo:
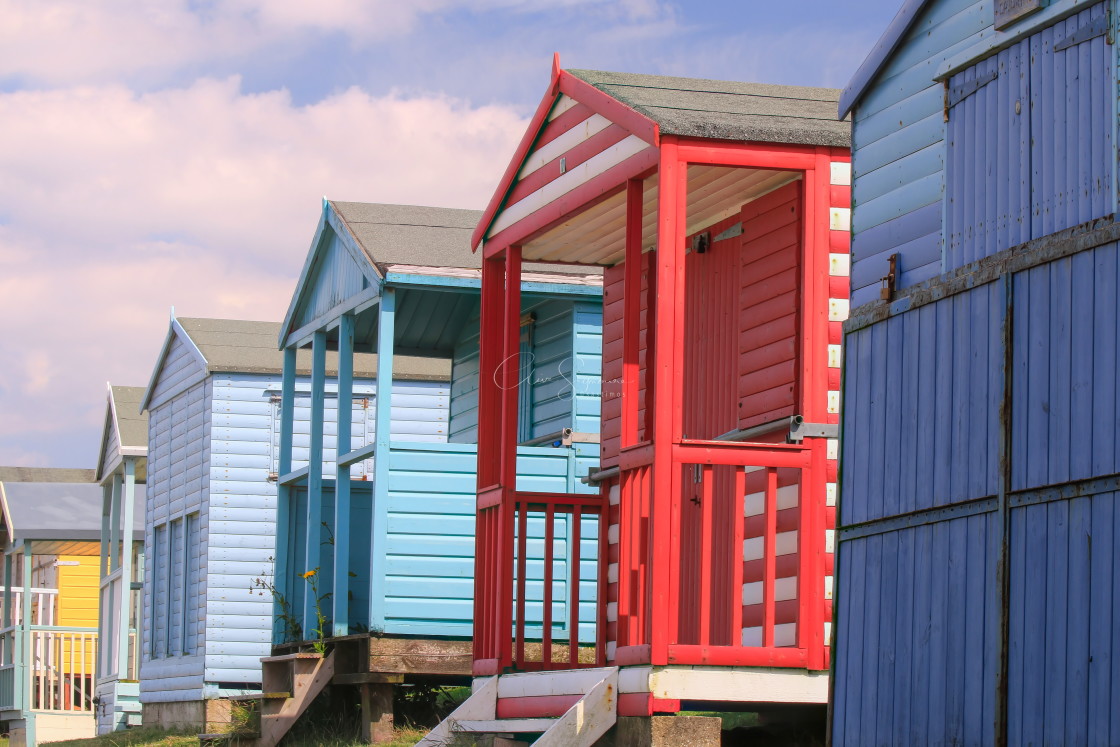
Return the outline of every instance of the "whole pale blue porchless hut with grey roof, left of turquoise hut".
{"type": "MultiPolygon", "coordinates": [[[[172,318],[141,401],[149,413],[144,725],[215,730],[228,721],[228,697],[260,693],[261,657],[272,644],[286,381],[297,448],[306,450],[310,429],[311,360],[300,356],[284,380],[279,333],[274,321],[172,318]]],[[[332,373],[337,366],[334,356],[320,364],[332,373]]],[[[354,364],[351,391],[320,395],[330,410],[348,403],[340,409],[351,413],[352,439],[365,442],[374,429],[376,361],[360,356],[354,364]]],[[[398,362],[413,407],[393,418],[394,432],[446,438],[437,413],[446,410],[448,370],[428,358],[398,362]]],[[[321,447],[333,459],[334,433],[321,447]]],[[[358,465],[355,475],[366,469],[358,465]]]]}

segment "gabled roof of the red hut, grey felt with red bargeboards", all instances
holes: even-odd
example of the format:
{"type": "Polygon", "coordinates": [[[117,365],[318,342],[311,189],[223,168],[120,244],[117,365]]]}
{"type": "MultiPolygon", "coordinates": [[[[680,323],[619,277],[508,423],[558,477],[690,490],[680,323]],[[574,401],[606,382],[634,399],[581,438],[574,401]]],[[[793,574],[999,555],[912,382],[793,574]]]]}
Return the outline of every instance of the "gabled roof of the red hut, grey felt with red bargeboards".
{"type": "MultiPolygon", "coordinates": [[[[566,71],[561,69],[557,55],[552,60],[549,87],[470,236],[470,245],[477,249],[487,236],[493,239],[492,227],[496,222],[501,223],[500,214],[507,203],[515,204],[523,197],[517,196],[519,179],[523,169],[530,169],[531,155],[540,156],[534,153],[534,149],[540,147],[543,152],[557,142],[549,141],[549,132],[545,132],[550,120],[559,123],[566,115],[571,116],[564,113],[564,103],[578,104],[572,113],[579,116],[597,115],[628,133],[626,140],[615,146],[629,143],[626,150],[628,156],[623,153],[624,160],[616,164],[613,170],[627,169],[627,174],[619,178],[631,178],[635,176],[631,171],[641,172],[656,164],[656,149],[662,136],[848,148],[851,144],[850,127],[837,122],[834,114],[839,97],[840,92],[832,88],[566,71]],[[643,144],[648,147],[643,150],[640,148],[643,144]]],[[[570,166],[575,165],[560,165],[560,174],[567,175],[570,166]]],[[[601,174],[599,178],[609,174],[601,174]]],[[[531,178],[526,178],[529,180],[531,178]]],[[[598,193],[598,187],[592,192],[598,193]]],[[[549,207],[560,205],[566,197],[554,199],[549,207]]],[[[557,208],[557,212],[563,211],[557,208]]],[[[494,233],[501,234],[502,231],[494,228],[494,233]]]]}

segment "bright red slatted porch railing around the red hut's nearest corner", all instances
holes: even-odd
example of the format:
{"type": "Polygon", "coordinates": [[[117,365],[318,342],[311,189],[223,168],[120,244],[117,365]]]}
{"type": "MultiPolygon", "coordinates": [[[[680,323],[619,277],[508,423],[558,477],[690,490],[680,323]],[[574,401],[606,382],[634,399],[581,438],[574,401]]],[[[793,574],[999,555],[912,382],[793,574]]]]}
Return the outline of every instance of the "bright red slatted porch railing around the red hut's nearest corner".
{"type": "Polygon", "coordinates": [[[623,468],[615,663],[825,667],[824,448],[685,441],[673,452],[678,483],[656,489],[652,465],[623,468]],[[795,503],[780,506],[780,491],[795,503]],[[762,505],[748,512],[748,496],[762,505]],[[780,548],[794,531],[795,549],[780,548]],[[760,552],[746,558],[745,540],[760,552]],[[659,576],[653,560],[665,551],[659,576]],[[754,583],[760,594],[745,598],[754,583]]]}

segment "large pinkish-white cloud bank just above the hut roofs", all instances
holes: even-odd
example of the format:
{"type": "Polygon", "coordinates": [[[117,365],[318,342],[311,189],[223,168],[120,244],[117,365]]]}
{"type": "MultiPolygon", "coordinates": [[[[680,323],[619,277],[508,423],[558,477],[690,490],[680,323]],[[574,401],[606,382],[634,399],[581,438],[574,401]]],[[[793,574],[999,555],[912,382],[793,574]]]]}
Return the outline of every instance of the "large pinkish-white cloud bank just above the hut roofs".
{"type": "Polygon", "coordinates": [[[0,463],[92,463],[104,382],[147,383],[170,306],[279,319],[324,195],[480,208],[525,125],[442,95],[296,105],[236,77],[0,94],[0,463]]]}

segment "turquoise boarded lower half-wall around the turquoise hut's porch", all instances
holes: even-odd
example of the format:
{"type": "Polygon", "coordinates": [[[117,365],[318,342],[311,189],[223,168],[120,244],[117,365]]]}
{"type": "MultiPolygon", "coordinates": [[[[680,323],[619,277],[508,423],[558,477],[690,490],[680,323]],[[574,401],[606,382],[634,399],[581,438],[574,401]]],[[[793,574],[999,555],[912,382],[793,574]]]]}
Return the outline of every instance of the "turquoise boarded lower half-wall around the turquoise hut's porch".
{"type": "MultiPolygon", "coordinates": [[[[469,637],[474,599],[476,447],[458,443],[405,443],[391,447],[389,474],[388,544],[384,578],[370,583],[370,536],[372,495],[365,485],[355,483],[351,522],[351,625],[365,626],[371,619],[368,589],[372,588],[374,614],[384,624],[374,625],[386,634],[469,637]],[[366,606],[363,609],[363,604],[366,606]]],[[[594,494],[578,480],[598,464],[598,446],[577,443],[571,448],[521,447],[517,457],[517,487],[522,491],[594,494]]],[[[296,517],[289,552],[302,553],[307,534],[307,492],[300,489],[292,516],[296,517]]],[[[324,495],[323,515],[334,523],[333,480],[324,495]]],[[[554,634],[564,636],[570,566],[568,522],[561,520],[554,536],[553,620],[554,634]]],[[[540,636],[543,599],[543,514],[531,516],[528,533],[530,562],[526,568],[528,635],[540,636]]],[[[598,522],[584,517],[580,530],[580,638],[594,641],[595,583],[598,553],[598,522]]],[[[377,552],[377,548],[372,549],[377,552]]],[[[323,548],[318,591],[332,592],[333,549],[323,548]]],[[[290,580],[293,608],[299,608],[309,585],[296,578],[305,569],[293,568],[290,580]]],[[[360,628],[361,629],[361,628],[360,628]]]]}

